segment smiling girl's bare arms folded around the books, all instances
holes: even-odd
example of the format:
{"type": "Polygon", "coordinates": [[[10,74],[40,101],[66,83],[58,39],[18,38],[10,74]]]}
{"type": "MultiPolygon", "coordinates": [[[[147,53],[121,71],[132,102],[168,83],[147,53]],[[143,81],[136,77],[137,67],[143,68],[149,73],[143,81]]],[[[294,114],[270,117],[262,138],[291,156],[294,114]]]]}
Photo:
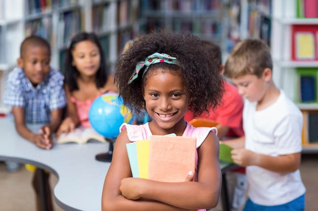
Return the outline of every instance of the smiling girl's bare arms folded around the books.
{"type": "MultiPolygon", "coordinates": [[[[123,148],[121,145],[124,144],[125,143],[116,141],[114,149],[114,154],[116,154],[116,156],[119,154],[118,148],[123,148]]],[[[121,210],[124,210],[124,207],[131,207],[131,210],[135,208],[136,210],[144,210],[143,208],[147,210],[147,207],[151,207],[151,210],[166,210],[166,207],[168,210],[179,210],[177,207],[184,208],[185,210],[197,210],[200,208],[211,208],[216,206],[220,193],[221,173],[218,163],[218,139],[215,134],[210,133],[199,148],[198,154],[198,182],[166,183],[140,178],[128,178],[131,174],[129,161],[128,157],[123,158],[124,156],[127,156],[126,153],[122,153],[121,160],[125,161],[116,163],[117,157],[113,158],[115,159],[115,162],[114,160],[112,161],[112,165],[107,176],[108,178],[105,180],[104,189],[106,190],[107,188],[110,188],[107,187],[107,184],[111,183],[109,180],[112,172],[117,172],[118,174],[120,174],[120,172],[125,172],[125,175],[122,174],[116,178],[128,179],[124,179],[124,182],[116,180],[116,184],[114,184],[114,181],[110,184],[115,186],[112,188],[116,188],[117,192],[112,196],[116,197],[116,202],[113,200],[109,201],[112,201],[112,205],[114,206],[115,204],[118,204],[116,207],[118,208],[120,206],[121,210]],[[123,170],[123,166],[128,166],[128,168],[125,167],[125,170],[123,170]],[[121,168],[121,171],[117,168],[121,168]],[[122,190],[123,195],[137,200],[126,201],[128,199],[121,195],[118,187],[122,190]]],[[[184,179],[186,176],[187,175],[184,176],[184,179]]],[[[107,193],[110,194],[109,192],[107,193]]],[[[104,196],[105,195],[103,195],[103,197],[104,196]]]]}

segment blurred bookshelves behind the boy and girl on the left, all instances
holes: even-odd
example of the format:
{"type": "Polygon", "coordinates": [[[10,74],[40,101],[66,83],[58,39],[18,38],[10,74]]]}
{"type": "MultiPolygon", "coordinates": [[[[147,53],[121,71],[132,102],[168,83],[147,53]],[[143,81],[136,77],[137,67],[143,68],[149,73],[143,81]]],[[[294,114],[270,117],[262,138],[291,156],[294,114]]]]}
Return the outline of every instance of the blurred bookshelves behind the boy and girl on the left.
{"type": "Polygon", "coordinates": [[[16,66],[25,36],[50,41],[51,66],[63,72],[68,41],[80,31],[100,37],[109,68],[113,70],[124,43],[140,31],[140,0],[0,0],[0,113],[5,79],[16,66]]]}

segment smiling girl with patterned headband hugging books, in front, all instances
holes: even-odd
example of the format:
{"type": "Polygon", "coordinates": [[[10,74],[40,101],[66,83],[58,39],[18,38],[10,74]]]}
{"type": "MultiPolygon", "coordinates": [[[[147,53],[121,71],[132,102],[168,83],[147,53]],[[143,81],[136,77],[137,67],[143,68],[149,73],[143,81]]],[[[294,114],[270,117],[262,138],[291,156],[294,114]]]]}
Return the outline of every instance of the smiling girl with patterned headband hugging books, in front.
{"type": "Polygon", "coordinates": [[[217,205],[221,171],[216,130],[194,128],[184,120],[188,109],[198,116],[220,104],[224,80],[207,55],[198,37],[161,31],[139,37],[119,58],[119,95],[126,106],[146,110],[152,120],[122,124],[105,178],[102,210],[204,210],[217,205]],[[196,171],[179,183],[132,178],[126,143],[171,133],[197,138],[196,171]]]}

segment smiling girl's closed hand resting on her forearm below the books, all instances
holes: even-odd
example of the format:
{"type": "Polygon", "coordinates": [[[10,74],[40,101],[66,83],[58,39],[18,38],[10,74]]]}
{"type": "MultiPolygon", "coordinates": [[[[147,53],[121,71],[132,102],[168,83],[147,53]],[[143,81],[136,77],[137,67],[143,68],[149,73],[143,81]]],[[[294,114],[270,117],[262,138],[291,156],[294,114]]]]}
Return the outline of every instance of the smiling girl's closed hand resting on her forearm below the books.
{"type": "Polygon", "coordinates": [[[142,185],[142,180],[140,178],[124,178],[120,182],[119,190],[121,194],[130,200],[137,200],[140,198],[140,186],[142,185]]]}

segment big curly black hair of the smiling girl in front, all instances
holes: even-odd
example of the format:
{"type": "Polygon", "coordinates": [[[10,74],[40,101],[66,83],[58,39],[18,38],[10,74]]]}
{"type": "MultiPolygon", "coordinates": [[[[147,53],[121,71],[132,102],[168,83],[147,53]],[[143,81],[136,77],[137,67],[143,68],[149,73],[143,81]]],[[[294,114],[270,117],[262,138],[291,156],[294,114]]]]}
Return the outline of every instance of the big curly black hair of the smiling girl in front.
{"type": "Polygon", "coordinates": [[[142,95],[145,82],[152,71],[162,68],[172,74],[179,74],[183,79],[184,90],[190,99],[188,109],[193,112],[194,117],[200,116],[204,111],[209,112],[210,108],[214,110],[221,104],[224,77],[219,74],[218,60],[213,60],[208,55],[209,50],[199,38],[188,32],[172,33],[161,30],[140,36],[116,62],[114,77],[119,96],[124,105],[134,109],[136,113],[146,110],[142,95]],[[176,57],[180,66],[152,64],[144,76],[138,74],[128,84],[136,64],[145,61],[146,57],[155,52],[176,57]]]}

